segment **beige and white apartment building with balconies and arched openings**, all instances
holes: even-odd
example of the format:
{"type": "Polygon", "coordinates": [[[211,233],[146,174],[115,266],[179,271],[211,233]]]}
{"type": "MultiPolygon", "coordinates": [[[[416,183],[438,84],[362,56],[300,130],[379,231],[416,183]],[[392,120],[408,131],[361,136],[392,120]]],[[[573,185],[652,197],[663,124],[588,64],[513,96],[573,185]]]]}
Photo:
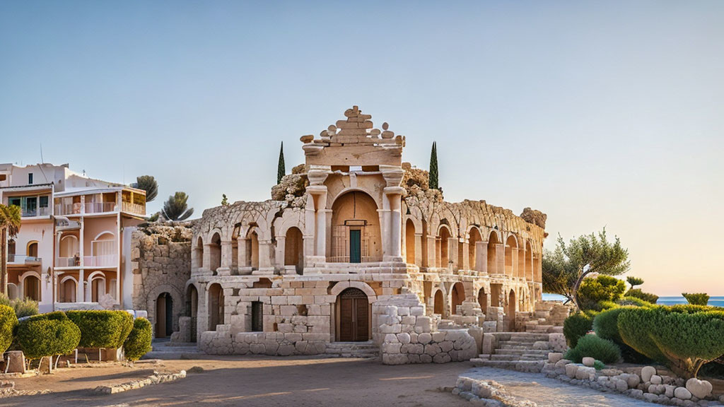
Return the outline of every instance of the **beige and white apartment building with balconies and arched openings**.
{"type": "Polygon", "coordinates": [[[38,301],[41,312],[130,307],[124,234],[143,222],[145,191],[67,164],[0,164],[0,201],[22,212],[8,243],[11,298],[38,301]]]}

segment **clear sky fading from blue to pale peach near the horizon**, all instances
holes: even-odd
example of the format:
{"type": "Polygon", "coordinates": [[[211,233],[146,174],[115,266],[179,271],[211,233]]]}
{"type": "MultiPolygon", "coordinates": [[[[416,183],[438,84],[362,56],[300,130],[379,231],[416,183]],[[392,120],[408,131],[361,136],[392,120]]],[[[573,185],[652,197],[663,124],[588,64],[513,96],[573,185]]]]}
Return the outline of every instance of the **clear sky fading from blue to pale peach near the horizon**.
{"type": "Polygon", "coordinates": [[[2,1],[0,161],[264,200],[353,104],[450,201],[606,226],[644,289],[724,295],[724,1],[2,1]]]}

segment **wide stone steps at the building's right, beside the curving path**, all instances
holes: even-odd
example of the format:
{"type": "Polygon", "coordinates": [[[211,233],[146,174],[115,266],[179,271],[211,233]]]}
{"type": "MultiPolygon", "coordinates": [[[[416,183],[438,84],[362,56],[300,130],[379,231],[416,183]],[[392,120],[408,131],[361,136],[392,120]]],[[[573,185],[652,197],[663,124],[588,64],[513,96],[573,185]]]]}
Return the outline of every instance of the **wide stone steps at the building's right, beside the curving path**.
{"type": "Polygon", "coordinates": [[[550,335],[541,332],[495,332],[494,344],[479,358],[471,359],[475,366],[498,367],[522,371],[540,371],[548,360],[550,335]]]}

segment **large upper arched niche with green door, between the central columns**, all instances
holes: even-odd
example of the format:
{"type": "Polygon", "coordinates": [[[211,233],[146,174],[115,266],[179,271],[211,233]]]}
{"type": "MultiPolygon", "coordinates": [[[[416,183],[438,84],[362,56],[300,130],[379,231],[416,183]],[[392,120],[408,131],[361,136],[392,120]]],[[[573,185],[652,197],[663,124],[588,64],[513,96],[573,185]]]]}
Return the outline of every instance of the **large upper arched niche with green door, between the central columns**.
{"type": "Polygon", "coordinates": [[[382,260],[379,213],[374,199],[353,190],[332,204],[332,263],[367,263],[382,260]]]}

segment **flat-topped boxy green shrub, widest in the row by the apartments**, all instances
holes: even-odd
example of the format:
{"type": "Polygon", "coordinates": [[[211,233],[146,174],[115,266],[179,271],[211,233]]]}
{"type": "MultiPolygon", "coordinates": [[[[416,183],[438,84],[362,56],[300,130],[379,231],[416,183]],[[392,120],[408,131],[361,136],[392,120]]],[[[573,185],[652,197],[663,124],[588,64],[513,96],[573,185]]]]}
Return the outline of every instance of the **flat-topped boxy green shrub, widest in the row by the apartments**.
{"type": "Polygon", "coordinates": [[[80,328],[81,348],[120,348],[133,329],[133,316],[126,311],[68,311],[80,328]]]}

